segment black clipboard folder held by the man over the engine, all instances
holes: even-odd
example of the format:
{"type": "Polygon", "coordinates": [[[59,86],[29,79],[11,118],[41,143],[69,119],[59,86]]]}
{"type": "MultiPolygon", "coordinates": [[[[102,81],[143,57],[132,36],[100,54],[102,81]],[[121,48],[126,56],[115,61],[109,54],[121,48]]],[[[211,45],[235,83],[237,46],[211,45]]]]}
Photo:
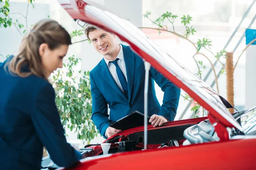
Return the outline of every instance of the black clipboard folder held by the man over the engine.
{"type": "MultiPolygon", "coordinates": [[[[149,121],[150,117],[147,116],[147,119],[149,121]]],[[[132,111],[127,116],[109,124],[110,127],[120,130],[127,130],[143,125],[144,114],[140,113],[139,111],[132,111]]],[[[151,123],[148,122],[148,125],[151,125],[151,123]]]]}

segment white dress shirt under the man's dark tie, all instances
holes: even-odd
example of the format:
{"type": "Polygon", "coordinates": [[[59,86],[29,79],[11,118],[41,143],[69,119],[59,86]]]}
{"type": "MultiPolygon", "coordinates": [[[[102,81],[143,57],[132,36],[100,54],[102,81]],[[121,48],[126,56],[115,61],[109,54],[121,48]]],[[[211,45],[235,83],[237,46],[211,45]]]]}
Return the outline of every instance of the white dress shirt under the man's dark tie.
{"type": "MultiPolygon", "coordinates": [[[[117,54],[116,58],[119,58],[119,60],[117,61],[117,64],[119,65],[122,73],[125,75],[125,79],[126,79],[126,82],[127,82],[127,74],[126,74],[126,68],[125,68],[125,58],[124,58],[124,54],[123,54],[123,51],[122,51],[122,45],[119,45],[120,46],[120,51],[119,53],[117,54]]],[[[104,57],[103,57],[104,58],[104,57]]],[[[105,62],[107,63],[108,65],[108,70],[110,71],[113,79],[115,80],[116,84],[119,86],[119,88],[122,90],[122,92],[124,92],[124,90],[122,89],[122,85],[118,79],[118,76],[117,76],[117,73],[116,73],[116,66],[110,62],[110,61],[113,61],[113,60],[108,60],[108,59],[105,59],[105,62]]]]}

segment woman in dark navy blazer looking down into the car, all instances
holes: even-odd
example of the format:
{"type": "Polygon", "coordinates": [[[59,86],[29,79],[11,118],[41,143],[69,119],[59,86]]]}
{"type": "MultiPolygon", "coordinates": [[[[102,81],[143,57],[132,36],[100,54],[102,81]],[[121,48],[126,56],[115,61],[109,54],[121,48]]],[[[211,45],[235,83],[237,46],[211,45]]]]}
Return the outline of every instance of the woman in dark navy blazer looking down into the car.
{"type": "Polygon", "coordinates": [[[19,53],[0,63],[0,169],[41,169],[43,146],[58,166],[81,159],[66,141],[48,81],[70,44],[56,21],[41,20],[23,37],[19,53]]]}

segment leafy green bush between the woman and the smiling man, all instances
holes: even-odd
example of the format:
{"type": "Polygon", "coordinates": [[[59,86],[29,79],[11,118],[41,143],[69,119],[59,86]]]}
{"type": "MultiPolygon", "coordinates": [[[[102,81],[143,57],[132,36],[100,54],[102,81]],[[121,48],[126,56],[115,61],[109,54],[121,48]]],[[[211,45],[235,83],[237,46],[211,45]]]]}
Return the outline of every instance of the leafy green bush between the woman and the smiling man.
{"type": "Polygon", "coordinates": [[[90,92],[89,71],[75,72],[76,65],[81,61],[74,56],[68,58],[64,69],[58,70],[53,76],[56,92],[56,103],[61,116],[62,125],[78,133],[77,139],[90,142],[98,131],[91,120],[92,100],[90,92]]]}

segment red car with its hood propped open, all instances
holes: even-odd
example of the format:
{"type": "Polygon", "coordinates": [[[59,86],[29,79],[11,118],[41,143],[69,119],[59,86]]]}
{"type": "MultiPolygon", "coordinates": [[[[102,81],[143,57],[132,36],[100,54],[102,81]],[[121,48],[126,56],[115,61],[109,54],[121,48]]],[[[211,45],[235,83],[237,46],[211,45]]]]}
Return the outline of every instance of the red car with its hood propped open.
{"type": "Polygon", "coordinates": [[[74,20],[116,34],[145,65],[152,65],[209,111],[207,117],[124,130],[103,142],[111,144],[108,154],[103,155],[100,144],[87,145],[81,149],[85,158],[73,170],[256,169],[256,108],[231,114],[225,99],[127,20],[85,0],[61,6],[74,20]]]}

